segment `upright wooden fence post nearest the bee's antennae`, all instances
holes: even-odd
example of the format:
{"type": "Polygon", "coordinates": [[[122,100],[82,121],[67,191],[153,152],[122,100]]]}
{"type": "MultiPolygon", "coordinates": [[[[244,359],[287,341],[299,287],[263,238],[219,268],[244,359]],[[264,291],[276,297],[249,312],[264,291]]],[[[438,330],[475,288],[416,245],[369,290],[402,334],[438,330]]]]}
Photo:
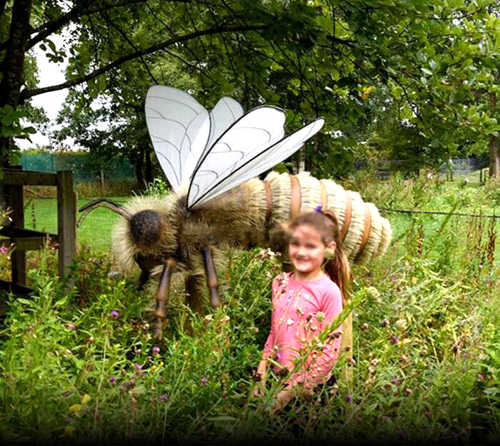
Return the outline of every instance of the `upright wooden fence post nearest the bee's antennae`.
{"type": "Polygon", "coordinates": [[[57,171],[57,230],[59,277],[69,273],[76,246],[76,197],[71,171],[57,171]]]}

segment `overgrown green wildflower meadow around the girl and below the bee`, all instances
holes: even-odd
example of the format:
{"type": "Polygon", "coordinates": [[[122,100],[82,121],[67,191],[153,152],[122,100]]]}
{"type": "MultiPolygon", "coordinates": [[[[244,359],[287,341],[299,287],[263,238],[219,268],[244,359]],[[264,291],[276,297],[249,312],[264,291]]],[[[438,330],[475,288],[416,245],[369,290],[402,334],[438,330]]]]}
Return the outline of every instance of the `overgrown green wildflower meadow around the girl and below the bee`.
{"type": "MultiPolygon", "coordinates": [[[[493,213],[500,200],[492,185],[396,178],[346,186],[388,208],[493,213]]],[[[354,270],[353,382],[299,397],[274,416],[283,378],[272,377],[262,397],[251,389],[278,260],[231,253],[229,270],[219,271],[224,305],[201,316],[174,278],[157,343],[155,283],[137,291],[134,277],[111,274],[106,250],[91,248],[80,250],[68,292],[54,279],[56,253],[34,253],[36,294],[11,300],[0,330],[0,442],[497,444],[499,225],[384,215],[394,242],[354,270]]],[[[104,237],[102,223],[86,223],[104,237]]],[[[339,360],[334,372],[344,366],[339,360]]]]}

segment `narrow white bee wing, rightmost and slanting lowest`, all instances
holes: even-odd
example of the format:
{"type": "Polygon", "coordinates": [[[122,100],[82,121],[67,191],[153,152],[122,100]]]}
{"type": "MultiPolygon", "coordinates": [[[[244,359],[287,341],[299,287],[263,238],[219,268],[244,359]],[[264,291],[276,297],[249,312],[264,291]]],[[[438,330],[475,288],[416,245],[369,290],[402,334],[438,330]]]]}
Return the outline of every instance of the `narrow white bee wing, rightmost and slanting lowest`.
{"type": "Polygon", "coordinates": [[[291,133],[291,135],[281,138],[274,144],[266,146],[253,157],[246,159],[244,163],[232,169],[227,169],[221,173],[221,178],[204,195],[193,203],[191,207],[199,206],[201,203],[219,196],[221,193],[238,186],[250,178],[259,175],[269,168],[276,166],[277,163],[295,153],[304,143],[318,133],[324,125],[324,119],[319,118],[309,123],[307,126],[291,133]]]}

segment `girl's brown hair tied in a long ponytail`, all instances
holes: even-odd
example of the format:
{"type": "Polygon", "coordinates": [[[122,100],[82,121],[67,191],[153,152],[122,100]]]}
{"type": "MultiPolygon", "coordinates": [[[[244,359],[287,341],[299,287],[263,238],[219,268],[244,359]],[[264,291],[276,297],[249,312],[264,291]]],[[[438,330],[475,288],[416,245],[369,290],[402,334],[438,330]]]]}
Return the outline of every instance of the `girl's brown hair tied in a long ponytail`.
{"type": "Polygon", "coordinates": [[[301,213],[291,221],[289,230],[294,230],[301,225],[311,225],[315,228],[321,235],[324,245],[328,245],[332,240],[336,243],[333,258],[326,261],[325,273],[339,285],[342,295],[347,298],[351,291],[351,265],[342,250],[339,221],[335,213],[330,209],[301,213]]]}

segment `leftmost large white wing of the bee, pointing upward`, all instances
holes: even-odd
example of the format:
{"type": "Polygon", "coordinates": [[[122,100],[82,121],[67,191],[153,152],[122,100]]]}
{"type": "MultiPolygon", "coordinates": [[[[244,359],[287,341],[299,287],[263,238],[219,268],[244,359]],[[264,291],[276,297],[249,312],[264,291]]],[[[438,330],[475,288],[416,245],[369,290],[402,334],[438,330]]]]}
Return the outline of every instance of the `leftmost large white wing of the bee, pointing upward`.
{"type": "Polygon", "coordinates": [[[209,112],[185,91],[152,86],[146,123],[161,168],[174,191],[187,183],[210,135],[209,112]]]}

